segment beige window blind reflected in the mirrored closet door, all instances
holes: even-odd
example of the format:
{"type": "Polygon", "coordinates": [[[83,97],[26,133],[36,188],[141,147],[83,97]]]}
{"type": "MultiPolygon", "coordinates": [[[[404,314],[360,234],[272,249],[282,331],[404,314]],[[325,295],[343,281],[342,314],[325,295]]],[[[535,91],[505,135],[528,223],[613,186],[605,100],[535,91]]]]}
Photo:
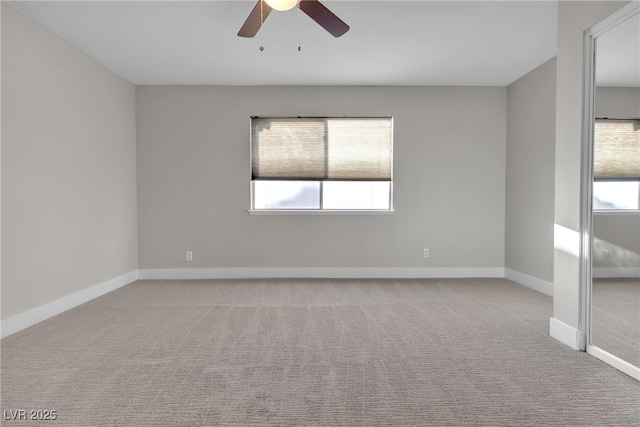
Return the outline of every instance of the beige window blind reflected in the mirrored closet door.
{"type": "Polygon", "coordinates": [[[640,120],[596,119],[594,177],[640,180],[640,120]]]}

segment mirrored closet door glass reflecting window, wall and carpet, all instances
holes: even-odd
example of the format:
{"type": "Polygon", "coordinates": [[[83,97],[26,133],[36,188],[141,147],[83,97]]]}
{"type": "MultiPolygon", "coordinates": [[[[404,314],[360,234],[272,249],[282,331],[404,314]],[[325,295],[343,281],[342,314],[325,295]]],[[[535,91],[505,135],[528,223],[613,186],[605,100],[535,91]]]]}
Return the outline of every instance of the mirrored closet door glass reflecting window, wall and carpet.
{"type": "Polygon", "coordinates": [[[596,39],[590,344],[640,366],[640,15],[596,39]]]}

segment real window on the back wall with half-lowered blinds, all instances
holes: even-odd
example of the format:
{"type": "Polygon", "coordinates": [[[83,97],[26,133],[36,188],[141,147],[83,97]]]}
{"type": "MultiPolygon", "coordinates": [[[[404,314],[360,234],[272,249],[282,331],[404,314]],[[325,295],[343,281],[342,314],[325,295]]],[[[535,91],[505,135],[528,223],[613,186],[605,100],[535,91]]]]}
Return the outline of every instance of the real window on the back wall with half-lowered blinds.
{"type": "Polygon", "coordinates": [[[392,134],[390,117],[252,117],[252,211],[391,211],[392,134]]]}

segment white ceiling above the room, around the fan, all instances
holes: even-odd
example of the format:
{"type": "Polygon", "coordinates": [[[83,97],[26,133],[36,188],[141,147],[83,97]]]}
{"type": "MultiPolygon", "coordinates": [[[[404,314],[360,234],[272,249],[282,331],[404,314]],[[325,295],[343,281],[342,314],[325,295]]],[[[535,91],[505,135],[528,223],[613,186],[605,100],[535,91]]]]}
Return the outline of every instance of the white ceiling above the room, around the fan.
{"type": "Polygon", "coordinates": [[[505,86],[556,54],[555,1],[324,1],[337,39],[297,9],[240,38],[255,0],[11,3],[135,84],[505,86]]]}

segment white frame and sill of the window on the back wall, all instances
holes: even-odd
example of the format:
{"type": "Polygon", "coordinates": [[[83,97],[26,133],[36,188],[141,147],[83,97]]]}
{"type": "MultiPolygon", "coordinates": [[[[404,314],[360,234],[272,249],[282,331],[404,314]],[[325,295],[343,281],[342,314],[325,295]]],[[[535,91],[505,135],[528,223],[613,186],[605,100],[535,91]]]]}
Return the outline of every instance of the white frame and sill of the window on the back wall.
{"type": "MultiPolygon", "coordinates": [[[[394,119],[393,116],[250,116],[249,117],[249,210],[248,212],[252,215],[391,215],[395,212],[394,209],[394,177],[393,177],[393,151],[394,151],[394,119]],[[319,183],[319,209],[303,209],[303,208],[294,208],[294,209],[256,209],[255,208],[255,182],[258,180],[253,179],[253,129],[252,129],[252,121],[253,119],[389,119],[391,125],[391,170],[390,170],[390,180],[384,181],[389,183],[389,209],[325,209],[322,207],[323,203],[323,183],[324,182],[382,182],[378,180],[362,180],[362,181],[349,181],[349,180],[321,180],[321,179],[311,179],[309,182],[317,182],[319,183]]],[[[264,180],[270,181],[270,180],[264,180]]],[[[274,179],[273,181],[278,181],[274,179]]],[[[295,180],[282,180],[282,181],[295,181],[295,180]]]]}

